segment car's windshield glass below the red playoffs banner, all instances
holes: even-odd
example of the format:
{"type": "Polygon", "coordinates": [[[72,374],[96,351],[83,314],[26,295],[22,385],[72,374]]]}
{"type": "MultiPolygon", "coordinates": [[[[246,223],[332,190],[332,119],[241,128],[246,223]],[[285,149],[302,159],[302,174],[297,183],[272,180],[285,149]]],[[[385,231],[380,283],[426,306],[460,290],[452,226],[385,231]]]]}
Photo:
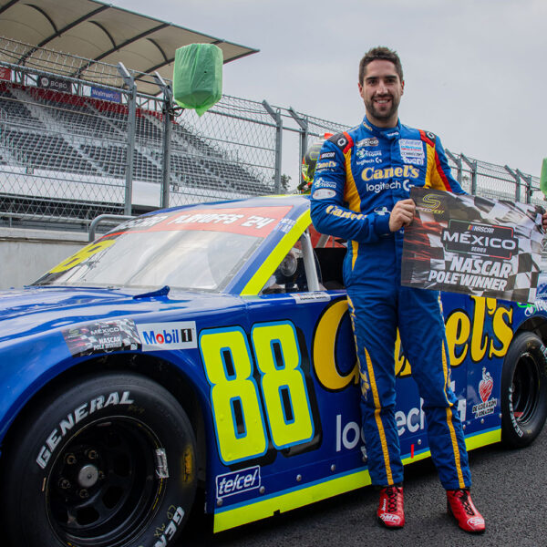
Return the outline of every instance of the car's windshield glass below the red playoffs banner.
{"type": "Polygon", "coordinates": [[[127,232],[88,246],[87,255],[71,257],[36,284],[170,285],[217,292],[232,280],[260,242],[260,238],[230,232],[127,232]]]}

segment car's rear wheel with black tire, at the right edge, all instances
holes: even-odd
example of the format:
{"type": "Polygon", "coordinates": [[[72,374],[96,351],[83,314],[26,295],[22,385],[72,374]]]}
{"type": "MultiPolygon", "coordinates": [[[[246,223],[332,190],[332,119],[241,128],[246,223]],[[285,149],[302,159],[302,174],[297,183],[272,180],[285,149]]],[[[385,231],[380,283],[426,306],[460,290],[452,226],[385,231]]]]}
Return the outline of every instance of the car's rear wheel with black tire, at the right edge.
{"type": "Polygon", "coordinates": [[[528,446],[547,418],[547,348],[533,333],[511,342],[501,372],[501,439],[512,448],[528,446]]]}

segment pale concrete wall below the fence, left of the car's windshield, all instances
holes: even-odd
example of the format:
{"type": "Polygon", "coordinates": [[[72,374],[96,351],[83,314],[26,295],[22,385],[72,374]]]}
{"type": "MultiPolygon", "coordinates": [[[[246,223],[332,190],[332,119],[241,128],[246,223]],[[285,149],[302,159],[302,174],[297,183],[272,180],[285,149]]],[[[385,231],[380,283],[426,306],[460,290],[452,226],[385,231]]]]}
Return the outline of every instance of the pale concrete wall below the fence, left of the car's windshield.
{"type": "Polygon", "coordinates": [[[87,233],[0,228],[0,290],[31,284],[87,243],[87,233]]]}

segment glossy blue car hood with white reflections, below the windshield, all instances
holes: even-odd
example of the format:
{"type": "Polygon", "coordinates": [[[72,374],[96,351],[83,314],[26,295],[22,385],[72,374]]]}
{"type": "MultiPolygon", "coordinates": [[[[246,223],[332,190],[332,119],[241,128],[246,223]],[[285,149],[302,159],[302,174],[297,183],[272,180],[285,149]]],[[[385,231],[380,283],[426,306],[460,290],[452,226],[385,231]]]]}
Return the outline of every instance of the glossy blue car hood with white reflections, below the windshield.
{"type": "Polygon", "coordinates": [[[8,339],[118,317],[165,321],[195,317],[212,309],[243,306],[237,296],[137,289],[26,287],[0,292],[0,344],[8,339]],[[144,317],[146,315],[146,318],[144,317]]]}

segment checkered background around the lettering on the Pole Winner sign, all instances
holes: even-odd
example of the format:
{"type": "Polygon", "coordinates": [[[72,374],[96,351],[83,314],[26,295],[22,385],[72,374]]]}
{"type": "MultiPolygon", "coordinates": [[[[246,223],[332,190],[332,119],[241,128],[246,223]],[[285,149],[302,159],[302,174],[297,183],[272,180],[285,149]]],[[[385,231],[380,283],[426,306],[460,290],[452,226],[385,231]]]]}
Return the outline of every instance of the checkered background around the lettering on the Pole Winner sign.
{"type": "Polygon", "coordinates": [[[416,187],[412,188],[410,196],[416,201],[417,209],[414,222],[405,229],[402,284],[522,303],[534,302],[542,252],[542,207],[416,187]],[[512,228],[513,236],[518,238],[518,252],[510,259],[502,259],[487,253],[449,251],[442,242],[442,233],[448,230],[450,220],[512,228]],[[498,283],[502,289],[483,288],[481,284],[488,283],[495,276],[452,271],[450,265],[453,261],[461,262],[462,259],[470,259],[468,264],[473,269],[490,261],[510,264],[511,271],[498,278],[506,282],[504,286],[498,283]],[[437,275],[433,276],[431,272],[437,275]],[[442,272],[445,274],[440,274],[442,272]],[[450,273],[459,274],[455,276],[455,283],[444,282],[446,274],[450,273]]]}

